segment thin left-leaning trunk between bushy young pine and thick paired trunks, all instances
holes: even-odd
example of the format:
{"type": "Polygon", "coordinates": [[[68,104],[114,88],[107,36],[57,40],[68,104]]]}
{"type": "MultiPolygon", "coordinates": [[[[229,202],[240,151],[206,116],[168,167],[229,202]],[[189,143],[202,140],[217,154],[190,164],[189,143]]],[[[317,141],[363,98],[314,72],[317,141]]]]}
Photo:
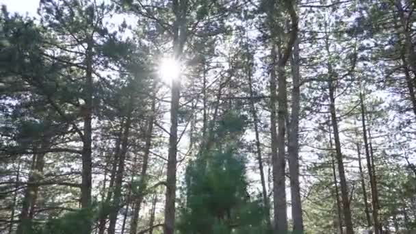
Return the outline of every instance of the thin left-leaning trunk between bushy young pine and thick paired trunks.
{"type": "Polygon", "coordinates": [[[255,127],[255,137],[256,137],[256,153],[257,153],[257,164],[259,164],[259,171],[260,171],[260,181],[261,181],[261,189],[263,195],[263,202],[265,207],[265,218],[267,219],[266,222],[270,228],[272,228],[272,223],[270,220],[270,202],[268,198],[267,188],[265,187],[265,177],[263,171],[263,157],[261,156],[261,144],[260,144],[260,136],[259,136],[259,120],[257,117],[257,109],[255,107],[255,100],[254,100],[254,93],[252,90],[252,70],[250,64],[248,66],[248,90],[250,92],[250,111],[253,118],[253,125],[255,127]]]}

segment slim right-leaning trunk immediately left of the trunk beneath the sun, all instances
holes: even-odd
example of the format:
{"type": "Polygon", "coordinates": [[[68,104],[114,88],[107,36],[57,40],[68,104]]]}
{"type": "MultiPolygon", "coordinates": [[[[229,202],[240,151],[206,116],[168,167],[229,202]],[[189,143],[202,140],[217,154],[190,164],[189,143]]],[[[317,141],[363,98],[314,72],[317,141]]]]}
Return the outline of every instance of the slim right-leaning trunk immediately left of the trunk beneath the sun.
{"type": "Polygon", "coordinates": [[[133,194],[133,217],[131,218],[130,223],[130,234],[135,234],[138,230],[138,220],[140,213],[140,206],[144,198],[144,192],[146,191],[146,179],[147,179],[147,168],[148,168],[148,157],[151,153],[152,146],[152,135],[153,135],[153,125],[155,122],[156,116],[156,81],[153,81],[153,98],[151,103],[151,115],[148,116],[147,128],[146,128],[146,140],[144,143],[144,155],[142,161],[142,171],[140,172],[140,181],[139,181],[139,194],[133,194]]]}

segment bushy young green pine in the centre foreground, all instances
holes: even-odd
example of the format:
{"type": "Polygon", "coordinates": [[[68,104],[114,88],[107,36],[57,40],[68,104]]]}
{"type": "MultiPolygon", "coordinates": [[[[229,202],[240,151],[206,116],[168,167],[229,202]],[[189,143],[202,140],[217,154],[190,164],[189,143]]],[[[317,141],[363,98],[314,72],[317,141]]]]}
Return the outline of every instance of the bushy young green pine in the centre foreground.
{"type": "Polygon", "coordinates": [[[219,122],[215,149],[187,166],[186,201],[180,209],[181,233],[267,233],[264,207],[248,194],[245,160],[235,143],[244,119],[229,113],[219,122]]]}

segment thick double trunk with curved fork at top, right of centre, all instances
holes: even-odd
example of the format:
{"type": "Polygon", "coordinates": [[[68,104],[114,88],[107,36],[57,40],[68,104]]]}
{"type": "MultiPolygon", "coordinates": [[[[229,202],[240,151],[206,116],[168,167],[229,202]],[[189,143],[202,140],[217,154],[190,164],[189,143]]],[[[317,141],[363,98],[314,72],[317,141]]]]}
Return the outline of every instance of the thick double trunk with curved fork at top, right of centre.
{"type": "Polygon", "coordinates": [[[290,16],[291,27],[289,34],[284,43],[281,36],[278,36],[274,10],[276,5],[274,1],[269,1],[268,23],[272,38],[272,69],[270,73],[270,125],[272,130],[272,168],[273,168],[273,196],[274,196],[274,232],[287,233],[287,200],[285,185],[285,132],[287,117],[287,90],[285,66],[291,56],[294,43],[298,35],[298,15],[294,9],[293,0],[283,1],[284,9],[290,16]],[[276,55],[276,42],[278,41],[278,58],[276,55]],[[277,60],[276,60],[277,59],[277,60]],[[276,70],[278,78],[278,94],[276,95],[276,70]],[[277,124],[278,132],[276,133],[276,102],[278,102],[277,124]],[[276,152],[278,149],[278,152],[276,152]]]}

